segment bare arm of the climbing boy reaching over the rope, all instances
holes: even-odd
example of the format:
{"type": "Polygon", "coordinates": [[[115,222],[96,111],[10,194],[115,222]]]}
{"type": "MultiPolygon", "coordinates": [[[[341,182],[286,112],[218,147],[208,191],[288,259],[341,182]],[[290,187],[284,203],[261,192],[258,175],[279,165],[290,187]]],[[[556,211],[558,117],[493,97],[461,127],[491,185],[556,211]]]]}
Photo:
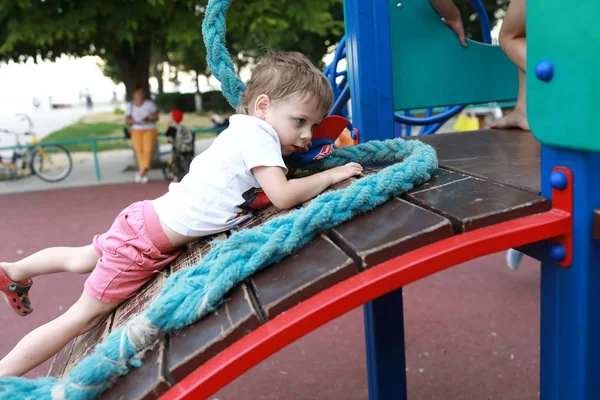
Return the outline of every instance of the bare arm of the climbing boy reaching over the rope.
{"type": "Polygon", "coordinates": [[[318,196],[329,186],[359,175],[362,167],[348,163],[306,178],[287,180],[279,167],[255,167],[252,173],[271,203],[277,208],[292,208],[318,196]]]}

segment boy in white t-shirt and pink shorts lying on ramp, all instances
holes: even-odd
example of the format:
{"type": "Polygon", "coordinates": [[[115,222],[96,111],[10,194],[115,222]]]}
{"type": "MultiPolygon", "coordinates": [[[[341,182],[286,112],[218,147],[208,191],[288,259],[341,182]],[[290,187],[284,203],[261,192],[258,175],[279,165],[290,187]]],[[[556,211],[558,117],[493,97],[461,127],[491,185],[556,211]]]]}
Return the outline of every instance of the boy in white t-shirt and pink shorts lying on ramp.
{"type": "Polygon", "coordinates": [[[248,193],[260,188],[276,207],[291,208],[360,174],[360,165],[348,163],[306,178],[286,178],[282,157],[307,149],[312,129],[332,103],[327,79],[306,57],[264,57],[243,96],[247,115],[232,116],[230,127],[166,194],[127,207],[91,245],[49,248],[0,263],[0,292],[21,315],[32,311],[32,277],[91,272],[80,299],[66,313],[29,333],[0,361],[0,376],[25,374],[92,329],[173,261],[185,244],[249,218],[255,202],[248,193]]]}

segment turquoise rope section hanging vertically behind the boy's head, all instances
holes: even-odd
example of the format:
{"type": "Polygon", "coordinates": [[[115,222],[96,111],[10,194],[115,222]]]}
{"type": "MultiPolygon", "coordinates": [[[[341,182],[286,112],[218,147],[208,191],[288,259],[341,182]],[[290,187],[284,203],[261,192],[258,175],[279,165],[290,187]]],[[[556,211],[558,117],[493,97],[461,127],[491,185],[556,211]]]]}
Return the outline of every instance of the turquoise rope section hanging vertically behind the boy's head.
{"type": "Polygon", "coordinates": [[[240,105],[244,83],[236,75],[231,56],[225,47],[225,14],[231,0],[209,0],[206,6],[202,36],[206,60],[213,75],[221,82],[221,90],[235,109],[240,105]]]}

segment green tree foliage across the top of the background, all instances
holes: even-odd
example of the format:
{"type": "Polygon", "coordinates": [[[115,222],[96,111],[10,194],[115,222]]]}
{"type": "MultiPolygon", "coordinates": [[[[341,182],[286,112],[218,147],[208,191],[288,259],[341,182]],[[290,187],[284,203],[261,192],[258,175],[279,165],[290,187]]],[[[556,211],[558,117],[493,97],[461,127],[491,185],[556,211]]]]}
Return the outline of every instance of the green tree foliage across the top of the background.
{"type": "MultiPolygon", "coordinates": [[[[467,35],[481,37],[469,0],[455,0],[467,35]]],[[[98,55],[102,69],[128,91],[147,80],[150,65],[207,75],[201,25],[206,0],[0,0],[0,61],[62,54],[98,55]],[[154,61],[151,62],[150,57],[154,61]]],[[[486,0],[493,18],[508,0],[486,0]]],[[[344,33],[342,0],[232,2],[227,48],[237,68],[268,50],[300,51],[323,67],[323,55],[344,33]]]]}

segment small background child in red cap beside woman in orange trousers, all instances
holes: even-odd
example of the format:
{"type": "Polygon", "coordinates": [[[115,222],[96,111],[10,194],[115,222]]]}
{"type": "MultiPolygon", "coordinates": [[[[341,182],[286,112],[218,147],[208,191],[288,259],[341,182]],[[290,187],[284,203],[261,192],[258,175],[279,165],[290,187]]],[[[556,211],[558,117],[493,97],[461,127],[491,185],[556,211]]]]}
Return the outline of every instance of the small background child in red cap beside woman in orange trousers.
{"type": "Polygon", "coordinates": [[[173,110],[171,124],[165,133],[173,143],[173,182],[179,182],[187,175],[194,159],[194,134],[181,123],[182,120],[181,110],[173,110]]]}

